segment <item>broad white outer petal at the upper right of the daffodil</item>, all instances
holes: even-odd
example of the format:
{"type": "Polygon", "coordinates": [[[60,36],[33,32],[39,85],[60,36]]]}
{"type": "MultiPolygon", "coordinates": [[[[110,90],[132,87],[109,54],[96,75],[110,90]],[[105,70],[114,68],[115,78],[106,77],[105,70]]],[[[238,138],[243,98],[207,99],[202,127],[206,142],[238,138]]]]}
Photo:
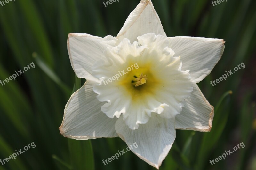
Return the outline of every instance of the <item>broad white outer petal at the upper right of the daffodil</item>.
{"type": "Polygon", "coordinates": [[[168,37],[169,47],[180,56],[182,70],[190,70],[191,80],[203,80],[220,60],[224,40],[200,37],[168,37]]]}

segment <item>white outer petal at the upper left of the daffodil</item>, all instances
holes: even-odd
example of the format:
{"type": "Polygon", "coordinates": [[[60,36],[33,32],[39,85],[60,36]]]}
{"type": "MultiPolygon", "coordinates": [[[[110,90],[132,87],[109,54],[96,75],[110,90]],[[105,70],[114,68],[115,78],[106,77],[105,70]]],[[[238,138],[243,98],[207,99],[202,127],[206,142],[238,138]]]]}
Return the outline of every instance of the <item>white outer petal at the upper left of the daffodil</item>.
{"type": "Polygon", "coordinates": [[[110,35],[101,38],[90,34],[68,34],[68,54],[77,77],[98,82],[92,76],[92,66],[104,58],[103,51],[106,48],[113,48],[115,44],[116,38],[110,35]]]}

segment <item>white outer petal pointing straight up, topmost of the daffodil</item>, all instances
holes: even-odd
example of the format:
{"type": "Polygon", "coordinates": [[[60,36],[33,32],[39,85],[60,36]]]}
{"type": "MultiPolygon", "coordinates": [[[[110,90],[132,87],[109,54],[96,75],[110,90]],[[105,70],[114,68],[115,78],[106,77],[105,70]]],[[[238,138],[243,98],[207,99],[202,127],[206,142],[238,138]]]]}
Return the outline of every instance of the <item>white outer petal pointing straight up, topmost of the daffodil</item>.
{"type": "Polygon", "coordinates": [[[141,0],[140,4],[126,19],[117,38],[119,42],[124,38],[128,38],[133,43],[137,41],[138,36],[146,33],[155,33],[156,35],[160,34],[166,37],[151,0],[141,0]]]}

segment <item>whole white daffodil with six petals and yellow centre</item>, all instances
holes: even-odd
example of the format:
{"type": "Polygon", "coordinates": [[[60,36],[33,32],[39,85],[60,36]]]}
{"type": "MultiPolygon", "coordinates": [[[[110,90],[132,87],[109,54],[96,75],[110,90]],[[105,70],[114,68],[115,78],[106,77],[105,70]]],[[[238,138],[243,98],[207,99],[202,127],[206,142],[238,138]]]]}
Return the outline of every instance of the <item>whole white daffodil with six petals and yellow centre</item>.
{"type": "Polygon", "coordinates": [[[60,133],[84,140],[120,137],[157,169],[175,129],[210,131],[213,106],[196,85],[220,60],[220,39],[167,37],[150,0],[141,0],[117,37],[70,33],[71,65],[86,83],[69,99],[60,133]],[[104,85],[137,63],[139,68],[104,85]]]}

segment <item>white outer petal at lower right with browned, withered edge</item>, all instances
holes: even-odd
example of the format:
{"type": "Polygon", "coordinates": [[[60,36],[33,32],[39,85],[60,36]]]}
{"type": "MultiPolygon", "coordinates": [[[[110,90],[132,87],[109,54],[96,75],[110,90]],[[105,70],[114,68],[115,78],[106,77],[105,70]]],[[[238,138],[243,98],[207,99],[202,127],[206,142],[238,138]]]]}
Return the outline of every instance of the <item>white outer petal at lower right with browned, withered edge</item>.
{"type": "Polygon", "coordinates": [[[205,99],[199,87],[194,84],[190,97],[185,99],[184,107],[176,115],[176,129],[211,131],[214,116],[213,106],[205,99]]]}

